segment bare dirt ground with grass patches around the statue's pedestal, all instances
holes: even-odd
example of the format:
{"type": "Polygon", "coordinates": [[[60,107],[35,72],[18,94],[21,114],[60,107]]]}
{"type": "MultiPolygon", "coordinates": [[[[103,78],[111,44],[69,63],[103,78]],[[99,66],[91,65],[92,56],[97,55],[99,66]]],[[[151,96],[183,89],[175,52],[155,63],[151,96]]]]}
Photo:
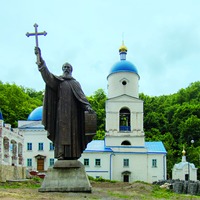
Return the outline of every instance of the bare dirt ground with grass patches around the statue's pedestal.
{"type": "Polygon", "coordinates": [[[153,186],[150,184],[135,182],[91,182],[92,193],[59,193],[59,192],[38,192],[38,188],[0,188],[0,199],[41,199],[41,200],[82,200],[82,199],[102,199],[102,200],[119,200],[119,199],[134,199],[134,200],[150,200],[150,199],[199,199],[197,197],[178,196],[166,193],[161,198],[159,194],[155,194],[153,186]],[[157,196],[158,195],[158,196],[157,196]]]}

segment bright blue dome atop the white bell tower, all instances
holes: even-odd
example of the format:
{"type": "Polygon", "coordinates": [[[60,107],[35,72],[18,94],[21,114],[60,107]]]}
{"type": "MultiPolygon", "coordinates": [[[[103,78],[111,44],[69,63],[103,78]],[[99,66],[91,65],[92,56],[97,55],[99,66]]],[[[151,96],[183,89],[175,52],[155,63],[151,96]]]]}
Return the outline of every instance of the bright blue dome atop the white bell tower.
{"type": "Polygon", "coordinates": [[[127,60],[120,60],[119,62],[114,64],[110,70],[109,75],[116,72],[133,72],[138,74],[136,67],[127,60]]]}

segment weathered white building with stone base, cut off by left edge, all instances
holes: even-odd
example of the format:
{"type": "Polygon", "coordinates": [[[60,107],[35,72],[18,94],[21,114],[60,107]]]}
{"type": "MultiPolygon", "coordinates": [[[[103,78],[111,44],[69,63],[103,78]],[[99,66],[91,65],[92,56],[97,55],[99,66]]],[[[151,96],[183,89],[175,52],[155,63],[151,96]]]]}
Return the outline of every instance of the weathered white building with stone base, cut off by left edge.
{"type": "Polygon", "coordinates": [[[0,182],[26,177],[23,143],[23,136],[10,124],[4,123],[0,111],[0,182]]]}

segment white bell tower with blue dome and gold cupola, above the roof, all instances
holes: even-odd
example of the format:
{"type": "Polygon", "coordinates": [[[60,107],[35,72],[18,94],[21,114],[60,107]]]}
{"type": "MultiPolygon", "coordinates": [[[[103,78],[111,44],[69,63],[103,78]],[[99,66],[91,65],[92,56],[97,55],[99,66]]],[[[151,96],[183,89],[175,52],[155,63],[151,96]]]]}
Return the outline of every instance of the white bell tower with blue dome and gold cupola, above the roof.
{"type": "Polygon", "coordinates": [[[138,93],[140,77],[137,68],[126,60],[127,51],[122,42],[120,61],[113,65],[107,77],[105,145],[144,148],[143,101],[138,93]]]}

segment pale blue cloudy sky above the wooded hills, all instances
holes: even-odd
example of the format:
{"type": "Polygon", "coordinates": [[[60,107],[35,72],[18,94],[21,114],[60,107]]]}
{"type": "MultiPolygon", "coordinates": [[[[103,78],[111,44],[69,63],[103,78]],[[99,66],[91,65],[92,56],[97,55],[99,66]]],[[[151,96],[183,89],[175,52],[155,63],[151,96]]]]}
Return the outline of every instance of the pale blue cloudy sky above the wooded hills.
{"type": "Polygon", "coordinates": [[[200,80],[199,0],[6,0],[1,1],[0,81],[36,91],[45,84],[36,65],[34,32],[49,70],[73,77],[87,96],[107,94],[107,76],[120,60],[140,75],[139,93],[169,95],[200,80]]]}

